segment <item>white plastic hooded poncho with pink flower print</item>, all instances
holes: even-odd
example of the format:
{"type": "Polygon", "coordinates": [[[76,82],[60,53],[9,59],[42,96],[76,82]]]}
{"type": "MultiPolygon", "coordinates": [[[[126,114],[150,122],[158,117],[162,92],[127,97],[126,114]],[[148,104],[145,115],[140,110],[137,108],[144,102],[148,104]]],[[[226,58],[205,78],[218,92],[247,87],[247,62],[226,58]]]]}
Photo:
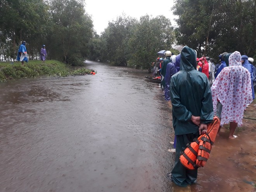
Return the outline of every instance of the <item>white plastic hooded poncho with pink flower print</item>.
{"type": "Polygon", "coordinates": [[[231,54],[228,61],[229,67],[221,70],[211,87],[213,110],[216,113],[219,100],[223,106],[220,125],[233,121],[241,126],[244,109],[253,101],[251,74],[242,67],[241,55],[238,51],[231,54]]]}

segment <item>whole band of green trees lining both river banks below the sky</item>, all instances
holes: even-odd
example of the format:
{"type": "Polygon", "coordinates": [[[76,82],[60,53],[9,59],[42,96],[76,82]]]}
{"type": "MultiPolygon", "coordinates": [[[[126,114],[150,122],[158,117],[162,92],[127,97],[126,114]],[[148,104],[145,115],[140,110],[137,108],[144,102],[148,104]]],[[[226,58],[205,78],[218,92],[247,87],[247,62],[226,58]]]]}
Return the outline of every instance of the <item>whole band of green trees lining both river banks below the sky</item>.
{"type": "Polygon", "coordinates": [[[175,45],[216,62],[221,53],[235,50],[256,58],[255,0],[175,0],[169,7],[176,24],[161,11],[140,19],[122,14],[100,35],[85,5],[85,0],[0,0],[0,61],[15,61],[21,41],[28,43],[29,62],[39,59],[44,44],[47,59],[72,66],[90,59],[149,69],[158,51],[178,54],[175,45]]]}

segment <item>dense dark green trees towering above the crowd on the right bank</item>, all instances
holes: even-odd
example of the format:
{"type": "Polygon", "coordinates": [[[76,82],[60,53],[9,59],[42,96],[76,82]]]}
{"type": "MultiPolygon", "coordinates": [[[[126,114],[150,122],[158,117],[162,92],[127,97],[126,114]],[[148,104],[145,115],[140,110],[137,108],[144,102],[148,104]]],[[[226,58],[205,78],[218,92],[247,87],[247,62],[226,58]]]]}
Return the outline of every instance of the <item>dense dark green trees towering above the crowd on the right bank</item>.
{"type": "Polygon", "coordinates": [[[255,0],[176,0],[173,10],[179,16],[175,29],[178,44],[203,55],[210,26],[206,55],[216,57],[237,50],[255,58],[255,0]]]}

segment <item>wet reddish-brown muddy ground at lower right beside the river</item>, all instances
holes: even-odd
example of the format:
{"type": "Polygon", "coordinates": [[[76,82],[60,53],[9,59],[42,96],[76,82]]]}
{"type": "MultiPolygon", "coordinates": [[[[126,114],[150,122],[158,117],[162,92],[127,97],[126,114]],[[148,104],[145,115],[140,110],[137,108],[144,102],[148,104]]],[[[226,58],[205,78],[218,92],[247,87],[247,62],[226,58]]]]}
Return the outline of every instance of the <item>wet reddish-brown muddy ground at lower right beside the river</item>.
{"type": "Polygon", "coordinates": [[[217,137],[210,158],[199,169],[198,184],[193,192],[256,191],[256,102],[244,112],[243,126],[237,128],[236,139],[228,139],[229,126],[224,125],[217,137]]]}

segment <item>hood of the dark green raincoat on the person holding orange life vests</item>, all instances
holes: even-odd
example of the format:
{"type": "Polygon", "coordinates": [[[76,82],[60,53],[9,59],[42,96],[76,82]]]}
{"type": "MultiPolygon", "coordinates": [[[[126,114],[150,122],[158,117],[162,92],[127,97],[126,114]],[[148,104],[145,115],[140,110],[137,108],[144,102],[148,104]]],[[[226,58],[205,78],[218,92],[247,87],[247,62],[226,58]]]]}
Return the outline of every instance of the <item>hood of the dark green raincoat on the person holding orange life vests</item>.
{"type": "Polygon", "coordinates": [[[185,46],[182,48],[180,53],[180,70],[190,71],[194,69],[196,69],[196,51],[188,46],[185,46]]]}

